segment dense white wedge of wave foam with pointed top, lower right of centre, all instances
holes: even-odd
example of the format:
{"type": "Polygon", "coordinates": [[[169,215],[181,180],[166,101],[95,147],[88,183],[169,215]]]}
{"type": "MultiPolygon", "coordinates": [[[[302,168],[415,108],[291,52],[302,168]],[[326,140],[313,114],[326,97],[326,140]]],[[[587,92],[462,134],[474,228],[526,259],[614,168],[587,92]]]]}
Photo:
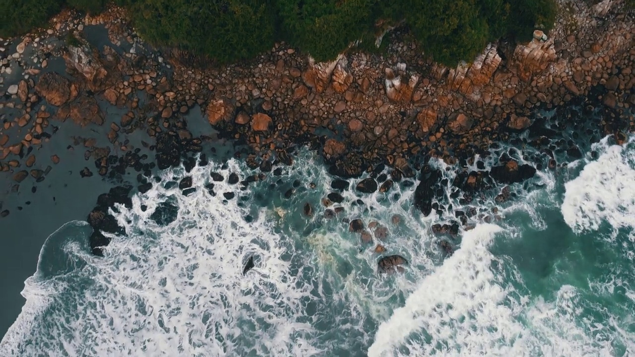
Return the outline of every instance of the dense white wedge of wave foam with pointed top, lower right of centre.
{"type": "Polygon", "coordinates": [[[500,230],[483,224],[466,232],[461,249],[380,325],[368,356],[394,356],[402,345],[415,356],[503,355],[507,343],[498,342],[511,342],[522,329],[503,304],[509,291],[490,269],[488,246],[500,230]],[[413,338],[420,334],[429,337],[413,338]]]}

